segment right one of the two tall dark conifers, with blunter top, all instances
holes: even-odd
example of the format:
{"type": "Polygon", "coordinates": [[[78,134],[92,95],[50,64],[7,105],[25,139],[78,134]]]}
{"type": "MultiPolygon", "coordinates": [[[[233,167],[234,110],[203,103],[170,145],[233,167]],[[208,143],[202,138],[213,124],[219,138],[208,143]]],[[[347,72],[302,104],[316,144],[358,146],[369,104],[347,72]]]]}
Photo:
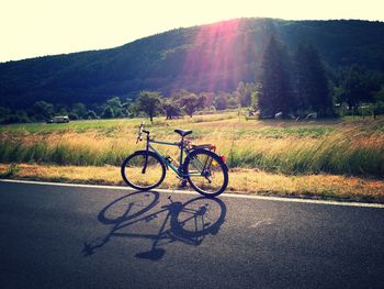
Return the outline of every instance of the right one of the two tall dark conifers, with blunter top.
{"type": "Polygon", "coordinates": [[[294,58],[297,109],[329,114],[334,103],[318,52],[312,45],[300,45],[294,58]]]}

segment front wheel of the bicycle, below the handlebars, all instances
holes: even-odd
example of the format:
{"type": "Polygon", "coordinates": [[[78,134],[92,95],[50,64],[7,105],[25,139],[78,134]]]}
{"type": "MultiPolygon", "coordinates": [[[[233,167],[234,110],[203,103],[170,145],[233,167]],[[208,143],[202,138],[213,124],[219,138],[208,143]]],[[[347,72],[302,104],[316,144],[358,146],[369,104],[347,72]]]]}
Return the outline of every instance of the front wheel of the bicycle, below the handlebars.
{"type": "Polygon", "coordinates": [[[150,190],[163,181],[166,165],[155,153],[137,151],[123,162],[121,173],[123,180],[129,187],[137,190],[150,190]]]}

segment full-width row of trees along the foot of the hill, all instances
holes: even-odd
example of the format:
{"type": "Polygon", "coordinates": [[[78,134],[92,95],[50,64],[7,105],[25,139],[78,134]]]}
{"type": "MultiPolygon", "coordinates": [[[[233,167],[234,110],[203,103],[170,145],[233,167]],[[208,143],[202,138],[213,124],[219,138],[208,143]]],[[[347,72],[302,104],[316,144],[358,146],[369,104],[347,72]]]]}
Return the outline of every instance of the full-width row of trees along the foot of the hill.
{"type": "Polygon", "coordinates": [[[261,74],[255,82],[240,81],[231,92],[185,89],[163,96],[144,90],[131,97],[110,97],[103,103],[75,102],[54,104],[36,101],[26,110],[0,107],[0,123],[48,121],[55,115],[71,120],[135,118],[165,114],[167,119],[183,114],[192,116],[197,110],[248,108],[260,118],[319,118],[340,114],[384,113],[384,75],[363,66],[326,66],[317,48],[300,44],[294,52],[271,36],[262,58],[261,74]],[[364,110],[364,111],[363,111],[364,110]]]}

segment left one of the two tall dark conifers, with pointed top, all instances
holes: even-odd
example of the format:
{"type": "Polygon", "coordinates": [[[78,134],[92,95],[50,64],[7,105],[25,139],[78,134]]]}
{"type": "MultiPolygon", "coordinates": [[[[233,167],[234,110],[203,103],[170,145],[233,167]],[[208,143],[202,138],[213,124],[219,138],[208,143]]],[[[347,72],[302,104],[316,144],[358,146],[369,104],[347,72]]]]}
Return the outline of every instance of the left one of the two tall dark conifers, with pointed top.
{"type": "Polygon", "coordinates": [[[264,52],[258,104],[261,116],[286,115],[293,110],[287,53],[273,36],[264,52]]]}

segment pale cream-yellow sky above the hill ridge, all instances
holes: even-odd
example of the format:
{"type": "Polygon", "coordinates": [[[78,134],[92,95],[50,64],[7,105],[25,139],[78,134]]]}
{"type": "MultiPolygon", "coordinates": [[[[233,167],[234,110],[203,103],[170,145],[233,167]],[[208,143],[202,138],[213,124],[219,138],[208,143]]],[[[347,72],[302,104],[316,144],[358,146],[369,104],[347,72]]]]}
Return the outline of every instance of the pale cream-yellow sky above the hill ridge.
{"type": "Polygon", "coordinates": [[[0,62],[112,48],[236,18],[384,21],[383,0],[0,0],[0,62]]]}

